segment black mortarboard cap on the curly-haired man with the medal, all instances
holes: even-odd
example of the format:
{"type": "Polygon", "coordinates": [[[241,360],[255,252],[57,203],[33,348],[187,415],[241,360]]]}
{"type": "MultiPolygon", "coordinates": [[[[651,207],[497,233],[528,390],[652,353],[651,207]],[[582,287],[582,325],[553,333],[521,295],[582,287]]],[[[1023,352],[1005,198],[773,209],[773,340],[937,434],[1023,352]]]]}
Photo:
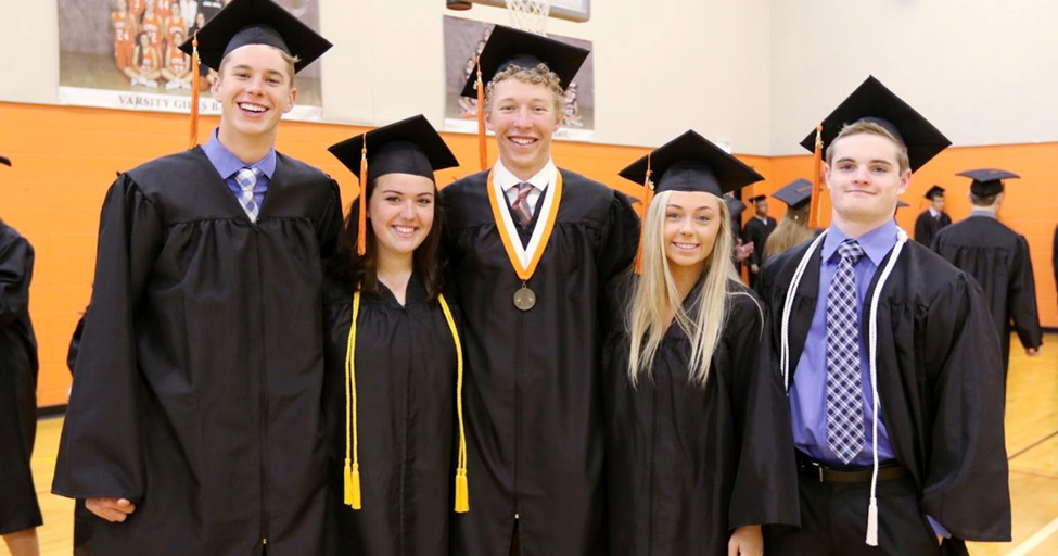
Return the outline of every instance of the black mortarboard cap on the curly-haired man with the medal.
{"type": "MultiPolygon", "coordinates": [[[[565,89],[589,53],[587,49],[561,40],[497,25],[479,56],[482,83],[488,85],[496,74],[511,65],[532,70],[543,63],[559,76],[559,81],[565,89]]],[[[472,72],[461,94],[476,97],[475,83],[477,83],[477,72],[472,72]]]]}

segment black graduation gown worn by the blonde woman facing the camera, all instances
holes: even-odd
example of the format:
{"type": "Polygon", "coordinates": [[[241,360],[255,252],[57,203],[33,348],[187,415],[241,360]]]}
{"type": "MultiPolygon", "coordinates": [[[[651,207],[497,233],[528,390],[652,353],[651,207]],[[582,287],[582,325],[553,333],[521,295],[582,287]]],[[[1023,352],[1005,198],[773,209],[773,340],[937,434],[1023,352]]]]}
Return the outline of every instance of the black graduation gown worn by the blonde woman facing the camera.
{"type": "MultiPolygon", "coordinates": [[[[632,289],[615,291],[628,300],[632,289]]],[[[776,457],[793,437],[763,304],[741,283],[732,291],[745,294],[730,298],[704,389],[688,383],[691,345],[675,324],[652,378],[633,387],[623,313],[613,323],[602,379],[610,554],[726,555],[740,526],[800,523],[794,462],[776,457]]]]}

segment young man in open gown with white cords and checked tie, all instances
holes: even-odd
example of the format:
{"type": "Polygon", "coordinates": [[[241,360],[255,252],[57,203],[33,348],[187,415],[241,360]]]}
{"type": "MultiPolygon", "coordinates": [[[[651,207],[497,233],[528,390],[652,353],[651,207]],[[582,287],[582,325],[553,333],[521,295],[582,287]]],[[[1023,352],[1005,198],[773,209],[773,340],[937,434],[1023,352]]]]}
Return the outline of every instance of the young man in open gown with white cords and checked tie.
{"type": "Polygon", "coordinates": [[[1008,541],[987,307],[970,277],[893,222],[912,172],[949,142],[874,77],[823,126],[831,225],[768,260],[759,283],[801,473],[801,529],[766,528],[765,549],[965,554],[963,540],[1008,541]]]}

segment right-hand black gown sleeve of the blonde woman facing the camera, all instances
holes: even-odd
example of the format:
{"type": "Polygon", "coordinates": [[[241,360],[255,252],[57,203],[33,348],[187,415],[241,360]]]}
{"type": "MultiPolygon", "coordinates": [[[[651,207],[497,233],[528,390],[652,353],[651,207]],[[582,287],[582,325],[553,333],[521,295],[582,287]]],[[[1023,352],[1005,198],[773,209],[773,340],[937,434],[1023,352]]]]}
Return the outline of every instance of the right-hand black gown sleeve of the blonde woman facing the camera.
{"type": "MultiPolygon", "coordinates": [[[[735,430],[741,440],[731,490],[728,527],[759,523],[799,526],[800,502],[790,409],[782,379],[772,364],[770,334],[763,304],[742,295],[732,327],[728,381],[735,430]],[[783,457],[783,454],[786,455],[783,457]]],[[[727,333],[725,333],[727,336],[727,333]]]]}

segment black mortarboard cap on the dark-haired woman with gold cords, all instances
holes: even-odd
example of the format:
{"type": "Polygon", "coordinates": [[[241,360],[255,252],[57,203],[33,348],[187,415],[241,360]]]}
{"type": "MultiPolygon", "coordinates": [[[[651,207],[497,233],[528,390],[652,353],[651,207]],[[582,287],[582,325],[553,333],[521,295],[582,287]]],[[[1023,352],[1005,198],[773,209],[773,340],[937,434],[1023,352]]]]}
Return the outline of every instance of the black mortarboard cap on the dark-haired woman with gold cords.
{"type": "MultiPolygon", "coordinates": [[[[368,180],[386,174],[411,174],[434,179],[435,170],[459,165],[445,140],[422,114],[372,129],[367,132],[367,139],[368,180]]],[[[364,134],[360,134],[327,150],[359,176],[362,147],[364,134]]]]}

